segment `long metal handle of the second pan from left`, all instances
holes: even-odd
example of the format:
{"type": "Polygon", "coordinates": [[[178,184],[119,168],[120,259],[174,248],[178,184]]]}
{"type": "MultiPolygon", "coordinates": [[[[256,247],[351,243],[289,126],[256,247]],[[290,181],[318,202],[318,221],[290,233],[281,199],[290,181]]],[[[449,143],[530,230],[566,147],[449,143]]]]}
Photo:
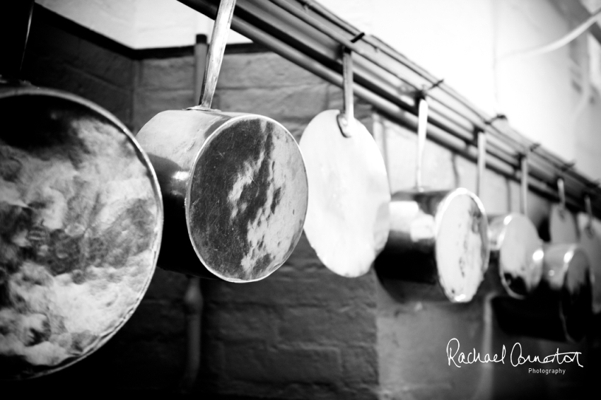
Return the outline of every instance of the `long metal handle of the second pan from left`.
{"type": "Polygon", "coordinates": [[[204,69],[204,81],[202,82],[199,100],[201,107],[207,109],[211,108],[211,102],[213,102],[213,95],[217,86],[221,61],[223,61],[223,52],[226,50],[234,7],[235,0],[221,0],[215,18],[215,25],[213,25],[213,35],[211,36],[211,44],[209,45],[209,54],[204,69]]]}

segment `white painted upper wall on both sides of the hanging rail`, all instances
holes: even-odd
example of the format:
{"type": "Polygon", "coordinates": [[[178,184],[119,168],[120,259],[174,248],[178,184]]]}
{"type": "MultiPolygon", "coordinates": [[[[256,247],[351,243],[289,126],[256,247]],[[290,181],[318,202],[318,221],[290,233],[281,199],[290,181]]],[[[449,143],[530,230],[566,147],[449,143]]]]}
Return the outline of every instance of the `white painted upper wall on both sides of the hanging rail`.
{"type": "MultiPolygon", "coordinates": [[[[36,1],[136,49],[191,45],[197,33],[209,33],[212,27],[209,18],[176,0],[36,1]]],[[[583,2],[591,9],[601,5],[601,0],[583,2]]],[[[516,50],[546,45],[576,25],[578,21],[568,20],[552,1],[320,3],[445,78],[482,110],[506,114],[512,127],[562,158],[575,160],[580,172],[601,178],[601,98],[598,90],[591,90],[590,100],[576,114],[582,93],[572,83],[574,66],[568,47],[529,59],[503,58],[516,50]]],[[[245,40],[230,35],[230,42],[245,40]]],[[[598,59],[585,61],[600,68],[598,59]]]]}

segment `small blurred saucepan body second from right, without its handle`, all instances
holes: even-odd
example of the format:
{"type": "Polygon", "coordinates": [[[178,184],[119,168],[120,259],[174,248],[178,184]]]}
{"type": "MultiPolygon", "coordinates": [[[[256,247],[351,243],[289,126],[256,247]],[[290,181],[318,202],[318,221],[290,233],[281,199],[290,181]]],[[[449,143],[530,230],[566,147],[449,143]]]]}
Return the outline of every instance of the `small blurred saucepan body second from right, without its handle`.
{"type": "Polygon", "coordinates": [[[496,217],[489,223],[491,260],[494,259],[503,288],[524,298],[538,286],[542,276],[542,240],[535,225],[522,214],[496,217]]]}

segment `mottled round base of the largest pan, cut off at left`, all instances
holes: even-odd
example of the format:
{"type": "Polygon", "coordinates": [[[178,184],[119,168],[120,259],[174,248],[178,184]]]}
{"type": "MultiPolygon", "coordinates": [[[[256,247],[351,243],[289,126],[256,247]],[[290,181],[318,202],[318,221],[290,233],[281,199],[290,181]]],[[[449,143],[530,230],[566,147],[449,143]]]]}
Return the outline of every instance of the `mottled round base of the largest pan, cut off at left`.
{"type": "Polygon", "coordinates": [[[0,90],[0,378],[100,348],[151,281],[163,205],[115,117],[57,90],[0,90]]]}

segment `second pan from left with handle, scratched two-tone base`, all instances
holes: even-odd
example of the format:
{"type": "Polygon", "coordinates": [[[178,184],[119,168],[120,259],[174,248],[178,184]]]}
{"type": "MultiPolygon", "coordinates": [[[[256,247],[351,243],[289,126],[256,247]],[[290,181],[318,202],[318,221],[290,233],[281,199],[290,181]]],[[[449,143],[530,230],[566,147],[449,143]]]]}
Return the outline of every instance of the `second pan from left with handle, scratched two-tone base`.
{"type": "Polygon", "coordinates": [[[210,108],[234,5],[222,0],[218,9],[201,105],[157,114],[136,139],[165,201],[158,265],[240,283],[284,264],[301,237],[308,189],[301,151],[286,128],[210,108]]]}

